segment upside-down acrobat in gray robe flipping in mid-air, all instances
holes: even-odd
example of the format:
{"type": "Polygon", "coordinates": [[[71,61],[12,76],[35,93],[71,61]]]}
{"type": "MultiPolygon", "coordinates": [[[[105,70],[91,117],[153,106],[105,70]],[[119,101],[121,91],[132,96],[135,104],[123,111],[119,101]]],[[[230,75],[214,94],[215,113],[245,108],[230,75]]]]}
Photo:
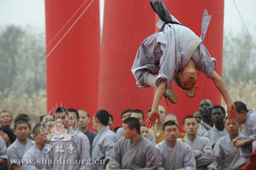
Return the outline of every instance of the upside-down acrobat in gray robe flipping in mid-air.
{"type": "Polygon", "coordinates": [[[131,69],[138,87],[157,88],[146,124],[151,127],[155,125],[156,119],[160,121],[158,106],[162,96],[171,103],[177,102],[171,81],[183,89],[188,97],[195,96],[199,71],[213,80],[228,106],[230,121],[235,121],[236,107],[221,76],[214,71],[216,59],[210,56],[203,45],[211,15],[208,15],[207,10],[204,11],[201,37],[198,37],[167,11],[163,1],[159,3],[159,0],[156,0],[150,3],[160,18],[157,24],[160,31],[141,43],[131,69]]]}

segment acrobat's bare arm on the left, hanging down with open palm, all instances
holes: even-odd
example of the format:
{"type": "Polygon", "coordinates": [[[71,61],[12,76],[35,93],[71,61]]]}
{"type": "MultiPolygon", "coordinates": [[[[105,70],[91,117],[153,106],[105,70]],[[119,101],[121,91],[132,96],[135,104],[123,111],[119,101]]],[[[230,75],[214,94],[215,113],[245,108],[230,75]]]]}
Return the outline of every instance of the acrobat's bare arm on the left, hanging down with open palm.
{"type": "Polygon", "coordinates": [[[165,91],[166,91],[166,80],[161,80],[158,88],[156,89],[155,98],[152,104],[150,116],[147,118],[145,122],[146,126],[150,128],[151,126],[155,125],[156,119],[158,119],[158,121],[160,122],[160,114],[158,113],[158,107],[165,91]]]}

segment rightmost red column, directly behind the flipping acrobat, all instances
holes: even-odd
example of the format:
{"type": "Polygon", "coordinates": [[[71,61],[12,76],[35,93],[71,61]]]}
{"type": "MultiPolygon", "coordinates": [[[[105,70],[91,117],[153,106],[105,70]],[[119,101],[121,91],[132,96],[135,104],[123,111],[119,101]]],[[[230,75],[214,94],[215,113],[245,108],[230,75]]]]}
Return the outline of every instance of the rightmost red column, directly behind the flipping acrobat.
{"type": "MultiPolygon", "coordinates": [[[[217,59],[216,72],[222,75],[222,41],[223,41],[223,22],[224,22],[224,1],[201,0],[201,1],[164,1],[170,14],[174,15],[179,22],[190,28],[197,36],[201,35],[201,22],[204,9],[207,9],[209,15],[212,15],[207,34],[203,44],[208,49],[210,55],[217,59]]],[[[200,101],[209,99],[213,105],[221,105],[221,94],[211,79],[208,79],[203,73],[199,73],[197,80],[196,95],[189,98],[179,87],[172,86],[177,95],[177,103],[169,104],[170,109],[162,99],[161,104],[167,108],[168,113],[177,115],[179,121],[179,130],[182,130],[183,118],[192,115],[199,110],[200,101]]]]}

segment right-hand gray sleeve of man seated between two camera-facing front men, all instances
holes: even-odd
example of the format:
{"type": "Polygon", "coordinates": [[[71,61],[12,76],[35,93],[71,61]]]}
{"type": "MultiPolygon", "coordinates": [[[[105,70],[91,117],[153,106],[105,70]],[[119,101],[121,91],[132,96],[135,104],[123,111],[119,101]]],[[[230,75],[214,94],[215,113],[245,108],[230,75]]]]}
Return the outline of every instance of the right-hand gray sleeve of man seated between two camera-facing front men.
{"type": "Polygon", "coordinates": [[[199,158],[196,158],[196,166],[197,167],[206,167],[213,161],[213,153],[212,153],[212,146],[210,145],[210,140],[205,138],[205,145],[203,148],[204,154],[199,158]]]}

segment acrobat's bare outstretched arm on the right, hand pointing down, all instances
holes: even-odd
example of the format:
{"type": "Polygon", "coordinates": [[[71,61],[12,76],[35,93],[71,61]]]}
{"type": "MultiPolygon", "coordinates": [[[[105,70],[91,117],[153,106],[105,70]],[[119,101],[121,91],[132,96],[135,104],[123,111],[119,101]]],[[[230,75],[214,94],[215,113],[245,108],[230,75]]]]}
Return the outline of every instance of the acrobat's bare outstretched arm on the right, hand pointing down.
{"type": "Polygon", "coordinates": [[[216,73],[216,71],[214,71],[212,80],[215,86],[217,87],[218,91],[220,91],[221,95],[223,96],[226,102],[226,105],[228,106],[229,121],[232,121],[232,122],[236,121],[236,117],[237,117],[236,107],[229,95],[228,89],[226,88],[223,79],[221,78],[220,75],[216,73]]]}

